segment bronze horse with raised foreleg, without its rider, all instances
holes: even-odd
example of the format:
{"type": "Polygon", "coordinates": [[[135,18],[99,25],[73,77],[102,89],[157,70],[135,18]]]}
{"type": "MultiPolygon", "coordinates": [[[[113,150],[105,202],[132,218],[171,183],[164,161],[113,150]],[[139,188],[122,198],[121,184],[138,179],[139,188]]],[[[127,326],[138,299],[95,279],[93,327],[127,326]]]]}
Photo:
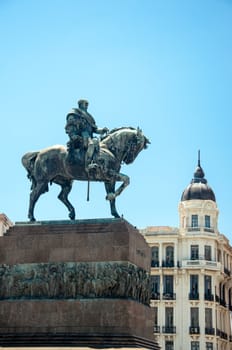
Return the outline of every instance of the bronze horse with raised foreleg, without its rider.
{"type": "Polygon", "coordinates": [[[70,153],[67,147],[55,145],[41,151],[29,152],[22,157],[22,163],[32,181],[28,218],[35,221],[34,207],[41,194],[48,191],[48,184],[61,186],[58,198],[69,210],[69,218],[75,219],[75,209],[68,200],[73,180],[102,181],[105,184],[106,199],[110,202],[111,214],[119,217],[115,198],[129,185],[129,177],[120,173],[123,163],[130,164],[139,152],[147,147],[149,140],[142,131],[131,127],[118,128],[109,132],[99,142],[94,156],[97,168],[85,170],[85,154],[81,149],[70,153]],[[122,184],[115,190],[115,184],[122,184]]]}

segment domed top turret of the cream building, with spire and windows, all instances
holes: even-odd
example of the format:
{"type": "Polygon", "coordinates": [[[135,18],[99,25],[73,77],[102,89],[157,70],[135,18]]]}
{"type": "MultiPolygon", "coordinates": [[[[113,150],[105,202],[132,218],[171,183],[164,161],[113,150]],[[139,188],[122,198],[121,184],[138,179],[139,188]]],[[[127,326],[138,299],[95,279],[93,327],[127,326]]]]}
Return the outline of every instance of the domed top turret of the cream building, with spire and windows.
{"type": "Polygon", "coordinates": [[[179,204],[181,234],[199,231],[199,233],[217,234],[218,214],[216,198],[205,179],[198,151],[198,164],[193,179],[183,191],[179,204]]]}

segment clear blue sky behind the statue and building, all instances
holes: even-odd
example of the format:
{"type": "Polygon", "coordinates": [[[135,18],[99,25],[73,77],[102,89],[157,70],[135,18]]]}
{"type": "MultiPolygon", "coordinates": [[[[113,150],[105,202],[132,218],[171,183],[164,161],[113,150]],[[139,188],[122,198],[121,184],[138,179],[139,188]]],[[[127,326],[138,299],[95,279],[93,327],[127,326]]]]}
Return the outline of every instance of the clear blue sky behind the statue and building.
{"type": "MultiPolygon", "coordinates": [[[[133,225],[179,225],[178,204],[201,165],[232,238],[232,2],[1,0],[0,212],[26,221],[24,153],[65,144],[68,111],[89,100],[99,127],[140,126],[149,148],[122,172],[118,198],[133,225]]],[[[103,184],[75,182],[77,218],[110,217],[103,184]]],[[[37,220],[66,219],[50,187],[37,220]]]]}

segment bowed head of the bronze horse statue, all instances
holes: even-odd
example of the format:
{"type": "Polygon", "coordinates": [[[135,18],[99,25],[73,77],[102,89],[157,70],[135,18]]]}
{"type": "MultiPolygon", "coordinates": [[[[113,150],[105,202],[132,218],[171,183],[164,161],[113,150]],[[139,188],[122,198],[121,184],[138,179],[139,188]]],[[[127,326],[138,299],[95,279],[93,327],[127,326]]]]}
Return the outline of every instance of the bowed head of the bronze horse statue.
{"type": "Polygon", "coordinates": [[[140,128],[129,130],[130,132],[128,132],[127,147],[122,159],[122,161],[126,164],[132,163],[138,154],[143,149],[147,148],[147,145],[150,143],[148,138],[143,135],[140,128]]]}

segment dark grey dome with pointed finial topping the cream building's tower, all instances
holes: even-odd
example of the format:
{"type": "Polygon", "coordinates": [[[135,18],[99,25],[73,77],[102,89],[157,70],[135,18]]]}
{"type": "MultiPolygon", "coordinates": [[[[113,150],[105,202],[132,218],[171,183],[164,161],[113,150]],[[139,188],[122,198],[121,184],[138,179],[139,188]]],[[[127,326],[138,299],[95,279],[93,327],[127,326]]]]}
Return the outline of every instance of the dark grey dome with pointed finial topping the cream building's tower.
{"type": "Polygon", "coordinates": [[[200,165],[200,157],[198,165],[193,175],[191,183],[187,186],[181,196],[181,201],[189,201],[192,199],[211,200],[216,202],[216,198],[212,188],[207,184],[204,171],[200,165]]]}

